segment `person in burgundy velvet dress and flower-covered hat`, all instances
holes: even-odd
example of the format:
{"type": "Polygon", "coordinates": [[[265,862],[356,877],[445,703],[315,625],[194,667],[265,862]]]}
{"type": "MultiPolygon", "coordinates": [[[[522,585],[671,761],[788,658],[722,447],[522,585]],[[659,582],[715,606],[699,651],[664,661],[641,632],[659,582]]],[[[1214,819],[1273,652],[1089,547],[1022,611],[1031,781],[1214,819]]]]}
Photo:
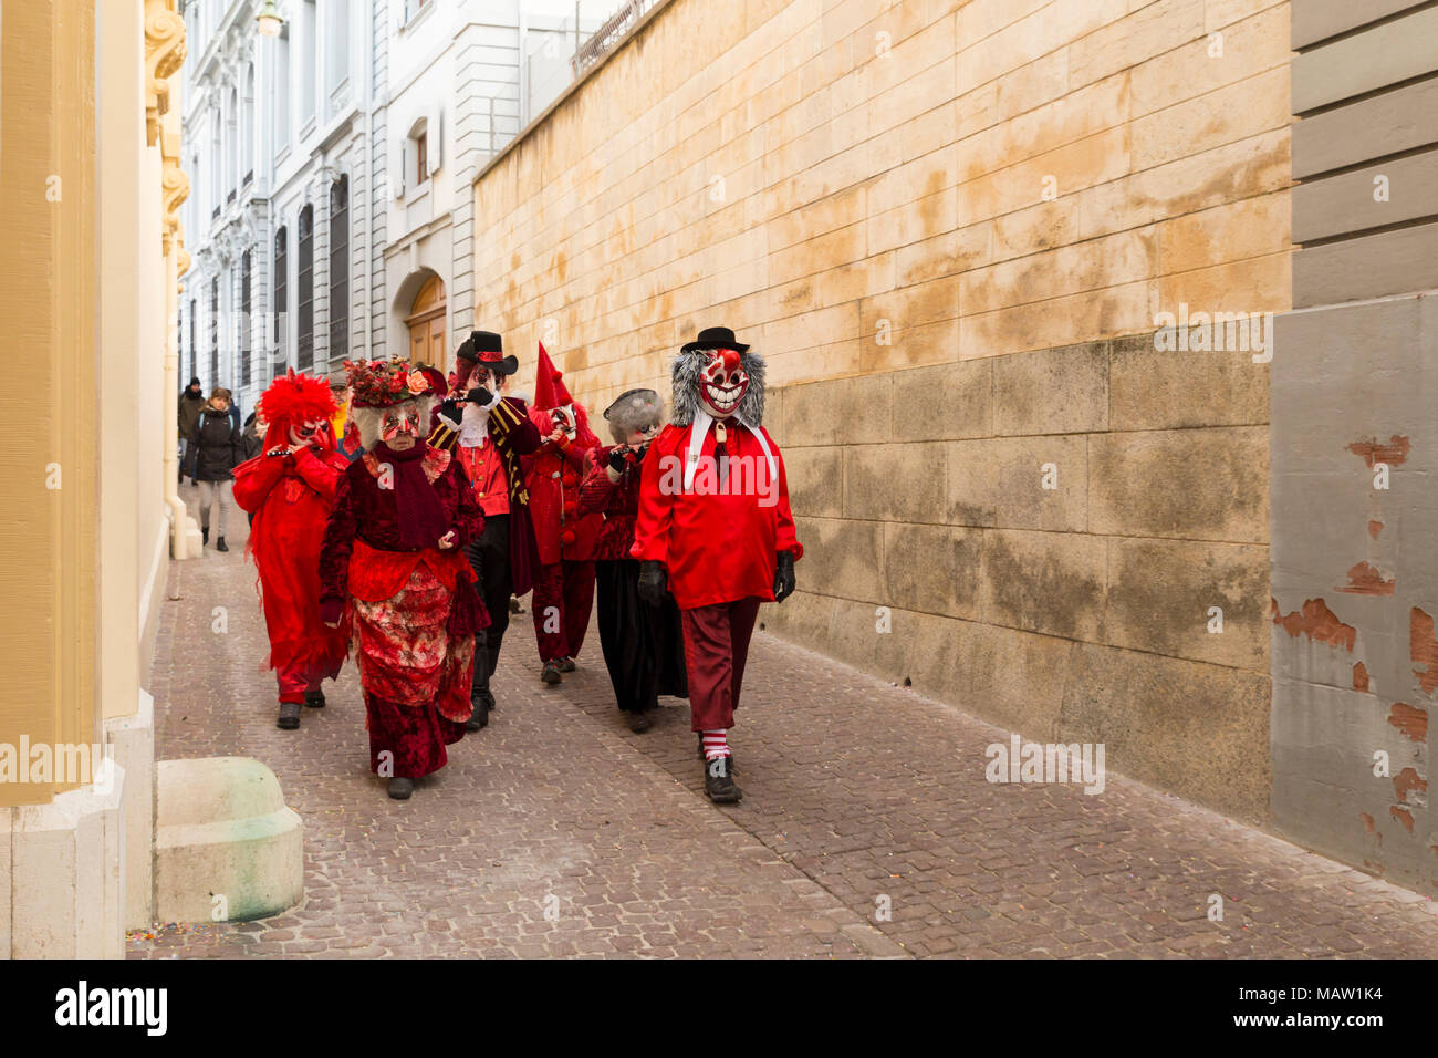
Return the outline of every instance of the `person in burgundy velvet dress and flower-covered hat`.
{"type": "Polygon", "coordinates": [[[459,461],[426,440],[443,377],[403,360],[345,367],[364,455],[325,528],[319,612],[354,636],[370,766],[404,800],[464,737],[475,633],[489,623],[464,544],[483,515],[459,461]]]}

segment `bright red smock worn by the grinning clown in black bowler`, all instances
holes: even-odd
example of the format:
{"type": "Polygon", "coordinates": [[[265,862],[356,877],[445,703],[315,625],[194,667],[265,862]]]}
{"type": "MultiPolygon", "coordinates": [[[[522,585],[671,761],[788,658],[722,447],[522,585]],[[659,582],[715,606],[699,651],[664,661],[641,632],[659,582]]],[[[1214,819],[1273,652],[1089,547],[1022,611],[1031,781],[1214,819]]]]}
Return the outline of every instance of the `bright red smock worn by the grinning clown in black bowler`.
{"type": "Polygon", "coordinates": [[[664,563],[669,590],[683,610],[755,596],[772,602],[775,556],[804,554],[794,535],[779,446],[761,426],[774,453],[775,482],[758,438],[732,419],[725,426],[725,448],[739,462],[731,462],[723,487],[715,468],[713,425],[689,491],[683,489],[683,466],[692,426],[666,426],[644,456],[630,554],[664,563]]]}

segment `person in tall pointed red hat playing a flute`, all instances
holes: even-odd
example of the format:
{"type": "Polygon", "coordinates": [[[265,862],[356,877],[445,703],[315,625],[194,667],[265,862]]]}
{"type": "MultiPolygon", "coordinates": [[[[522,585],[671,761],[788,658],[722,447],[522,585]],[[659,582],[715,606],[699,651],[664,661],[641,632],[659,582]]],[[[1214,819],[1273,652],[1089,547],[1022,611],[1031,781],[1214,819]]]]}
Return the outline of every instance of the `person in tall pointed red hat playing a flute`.
{"type": "Polygon", "coordinates": [[[590,429],[590,413],[574,403],[564,377],[539,345],[535,403],[529,417],[544,438],[528,471],[529,515],[535,527],[539,569],[529,609],[544,669],[539,678],[558,684],[561,672],[574,672],[594,607],[594,540],[604,520],[581,514],[580,482],[587,456],[600,439],[590,429]]]}

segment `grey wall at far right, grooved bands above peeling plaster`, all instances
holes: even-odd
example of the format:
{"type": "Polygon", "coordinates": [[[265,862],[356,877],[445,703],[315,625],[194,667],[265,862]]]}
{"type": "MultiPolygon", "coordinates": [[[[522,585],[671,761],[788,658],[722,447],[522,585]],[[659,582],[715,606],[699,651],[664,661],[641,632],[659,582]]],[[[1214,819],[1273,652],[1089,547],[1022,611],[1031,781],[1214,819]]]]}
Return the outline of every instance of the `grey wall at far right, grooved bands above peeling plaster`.
{"type": "Polygon", "coordinates": [[[1431,891],[1438,9],[1294,3],[1294,311],[1273,361],[1273,813],[1431,891]],[[1426,291],[1426,295],[1424,294],[1426,291]]]}

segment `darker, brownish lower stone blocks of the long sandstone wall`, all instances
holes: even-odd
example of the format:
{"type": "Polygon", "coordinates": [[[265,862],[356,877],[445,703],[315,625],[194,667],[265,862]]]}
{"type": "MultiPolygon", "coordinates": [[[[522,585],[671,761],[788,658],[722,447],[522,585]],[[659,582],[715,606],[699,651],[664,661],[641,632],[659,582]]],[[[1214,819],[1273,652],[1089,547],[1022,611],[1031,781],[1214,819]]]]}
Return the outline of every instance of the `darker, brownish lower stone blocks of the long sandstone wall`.
{"type": "Polygon", "coordinates": [[[1192,356],[1140,335],[781,390],[771,432],[807,554],[761,619],[1261,818],[1265,367],[1192,356]]]}

